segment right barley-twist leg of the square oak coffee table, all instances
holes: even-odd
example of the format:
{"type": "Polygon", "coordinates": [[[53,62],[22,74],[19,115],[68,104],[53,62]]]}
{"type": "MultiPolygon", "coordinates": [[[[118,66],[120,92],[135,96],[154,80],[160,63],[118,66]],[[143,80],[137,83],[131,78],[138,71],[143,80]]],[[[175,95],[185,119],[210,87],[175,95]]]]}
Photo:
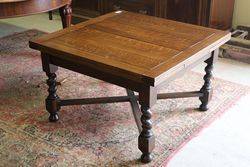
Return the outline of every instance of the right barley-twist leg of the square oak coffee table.
{"type": "Polygon", "coordinates": [[[201,111],[207,111],[208,110],[208,103],[212,98],[212,85],[211,85],[211,79],[213,77],[212,70],[213,70],[213,64],[215,59],[217,58],[217,51],[212,52],[212,55],[209,59],[205,61],[207,64],[205,68],[206,75],[203,77],[205,83],[203,87],[201,88],[200,92],[203,93],[203,96],[200,97],[201,105],[199,109],[201,111]]]}

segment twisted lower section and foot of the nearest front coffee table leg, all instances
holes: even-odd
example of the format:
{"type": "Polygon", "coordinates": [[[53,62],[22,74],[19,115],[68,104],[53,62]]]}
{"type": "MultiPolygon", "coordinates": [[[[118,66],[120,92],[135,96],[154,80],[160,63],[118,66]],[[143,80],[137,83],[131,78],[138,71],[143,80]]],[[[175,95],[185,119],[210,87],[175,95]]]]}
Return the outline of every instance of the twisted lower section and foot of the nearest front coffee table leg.
{"type": "Polygon", "coordinates": [[[142,163],[149,163],[152,161],[151,152],[155,147],[155,137],[152,132],[152,121],[151,121],[151,111],[149,107],[142,106],[142,132],[139,136],[138,143],[139,149],[142,152],[141,162],[142,163]]]}

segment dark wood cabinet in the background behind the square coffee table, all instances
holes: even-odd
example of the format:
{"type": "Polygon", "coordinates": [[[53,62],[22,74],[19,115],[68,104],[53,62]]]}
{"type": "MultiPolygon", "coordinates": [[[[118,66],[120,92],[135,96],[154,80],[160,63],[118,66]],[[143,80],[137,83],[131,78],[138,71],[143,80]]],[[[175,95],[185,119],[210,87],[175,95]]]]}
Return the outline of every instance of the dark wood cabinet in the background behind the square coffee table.
{"type": "Polygon", "coordinates": [[[73,20],[119,9],[227,30],[232,26],[234,0],[73,0],[73,20]]]}

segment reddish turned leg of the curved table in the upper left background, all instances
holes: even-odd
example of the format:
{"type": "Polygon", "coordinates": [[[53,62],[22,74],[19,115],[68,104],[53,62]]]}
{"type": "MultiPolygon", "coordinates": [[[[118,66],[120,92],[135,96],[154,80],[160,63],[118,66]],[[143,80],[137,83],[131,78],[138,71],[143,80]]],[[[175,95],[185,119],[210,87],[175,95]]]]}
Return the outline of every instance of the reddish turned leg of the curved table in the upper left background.
{"type": "Polygon", "coordinates": [[[70,27],[72,19],[72,8],[70,5],[66,5],[59,9],[60,16],[62,19],[63,28],[70,27]]]}

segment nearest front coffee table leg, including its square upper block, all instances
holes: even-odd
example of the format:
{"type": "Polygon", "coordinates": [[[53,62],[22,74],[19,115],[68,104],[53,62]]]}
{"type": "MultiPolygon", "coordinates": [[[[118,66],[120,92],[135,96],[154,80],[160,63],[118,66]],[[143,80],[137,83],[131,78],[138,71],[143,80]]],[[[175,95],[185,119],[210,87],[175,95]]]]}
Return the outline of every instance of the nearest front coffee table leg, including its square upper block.
{"type": "Polygon", "coordinates": [[[142,152],[141,162],[148,163],[152,161],[151,153],[155,147],[155,137],[152,132],[152,113],[150,111],[150,107],[156,103],[156,91],[151,88],[145,89],[145,91],[139,93],[139,99],[142,112],[142,131],[138,138],[138,147],[142,152]]]}

